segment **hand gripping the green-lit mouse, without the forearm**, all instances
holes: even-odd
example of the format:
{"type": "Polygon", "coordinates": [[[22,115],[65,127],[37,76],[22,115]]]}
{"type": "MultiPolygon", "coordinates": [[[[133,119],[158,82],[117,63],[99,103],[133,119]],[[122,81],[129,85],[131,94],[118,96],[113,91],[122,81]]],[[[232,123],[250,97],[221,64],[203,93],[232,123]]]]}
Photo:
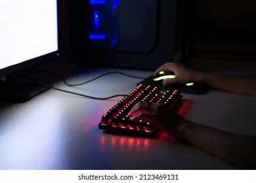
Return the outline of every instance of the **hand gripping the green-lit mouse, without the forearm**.
{"type": "Polygon", "coordinates": [[[163,80],[162,84],[164,86],[192,82],[194,81],[194,75],[196,74],[194,70],[186,68],[181,63],[165,63],[156,69],[153,75],[157,76],[160,71],[173,71],[175,73],[175,78],[163,80]]]}

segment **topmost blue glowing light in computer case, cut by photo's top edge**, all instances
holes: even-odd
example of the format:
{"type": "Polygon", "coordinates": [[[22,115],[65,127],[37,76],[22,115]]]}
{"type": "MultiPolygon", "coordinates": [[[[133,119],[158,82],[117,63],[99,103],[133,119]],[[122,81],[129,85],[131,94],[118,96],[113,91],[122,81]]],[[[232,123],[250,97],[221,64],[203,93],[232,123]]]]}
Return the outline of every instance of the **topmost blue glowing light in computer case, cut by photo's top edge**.
{"type": "Polygon", "coordinates": [[[119,0],[89,0],[89,3],[98,9],[114,9],[119,5],[119,0]]]}

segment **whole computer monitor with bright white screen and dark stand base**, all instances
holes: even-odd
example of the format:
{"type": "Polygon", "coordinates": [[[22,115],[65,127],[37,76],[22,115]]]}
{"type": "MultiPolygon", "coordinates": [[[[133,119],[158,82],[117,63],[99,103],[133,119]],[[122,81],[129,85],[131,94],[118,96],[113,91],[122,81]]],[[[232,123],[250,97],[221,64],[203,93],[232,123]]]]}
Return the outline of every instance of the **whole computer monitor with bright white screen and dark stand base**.
{"type": "Polygon", "coordinates": [[[27,101],[47,88],[10,76],[58,55],[58,0],[0,1],[1,99],[27,101]]]}

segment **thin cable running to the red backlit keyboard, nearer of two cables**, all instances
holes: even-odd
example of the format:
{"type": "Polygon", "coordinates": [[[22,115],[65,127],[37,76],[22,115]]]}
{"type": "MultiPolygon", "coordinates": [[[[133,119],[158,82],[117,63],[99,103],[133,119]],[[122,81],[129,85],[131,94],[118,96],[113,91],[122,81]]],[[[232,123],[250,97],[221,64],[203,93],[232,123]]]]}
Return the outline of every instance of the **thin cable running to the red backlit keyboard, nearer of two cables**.
{"type": "Polygon", "coordinates": [[[21,76],[24,76],[25,78],[28,78],[30,80],[33,80],[34,82],[37,82],[38,84],[42,84],[43,86],[47,86],[48,88],[51,88],[53,90],[58,90],[60,92],[65,92],[65,93],[70,93],[70,94],[73,94],[73,95],[79,95],[81,97],[86,97],[86,98],[89,98],[89,99],[95,99],[95,100],[107,100],[107,99],[112,99],[112,98],[115,98],[115,97],[125,97],[127,95],[125,94],[118,94],[118,95],[112,95],[110,97],[93,97],[93,96],[89,96],[89,95],[84,95],[84,94],[81,94],[81,93],[75,93],[75,92],[70,92],[68,90],[62,90],[60,88],[55,88],[53,85],[51,84],[46,84],[44,82],[40,82],[39,80],[36,80],[35,78],[32,78],[30,76],[26,76],[26,75],[21,75],[21,76]]]}

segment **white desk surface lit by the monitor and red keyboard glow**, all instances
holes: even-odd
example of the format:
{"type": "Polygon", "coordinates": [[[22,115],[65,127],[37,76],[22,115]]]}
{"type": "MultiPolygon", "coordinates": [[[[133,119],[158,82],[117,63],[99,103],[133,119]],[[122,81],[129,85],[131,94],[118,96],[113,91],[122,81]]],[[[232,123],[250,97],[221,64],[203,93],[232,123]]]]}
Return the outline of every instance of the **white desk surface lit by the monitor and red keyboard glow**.
{"type": "MultiPolygon", "coordinates": [[[[255,66],[255,65],[254,65],[255,66]]],[[[72,69],[77,83],[117,69],[72,69]]],[[[147,77],[149,71],[119,70],[147,77]]],[[[254,67],[255,71],[255,67],[254,67]]],[[[253,71],[252,71],[253,72],[253,71]]],[[[139,79],[108,75],[83,86],[56,87],[96,97],[127,94],[139,79]]],[[[255,97],[211,89],[182,94],[182,116],[230,132],[256,135],[255,97]]],[[[0,169],[237,169],[185,142],[104,133],[102,114],[121,97],[97,101],[49,90],[26,103],[0,102],[0,169]]]]}

